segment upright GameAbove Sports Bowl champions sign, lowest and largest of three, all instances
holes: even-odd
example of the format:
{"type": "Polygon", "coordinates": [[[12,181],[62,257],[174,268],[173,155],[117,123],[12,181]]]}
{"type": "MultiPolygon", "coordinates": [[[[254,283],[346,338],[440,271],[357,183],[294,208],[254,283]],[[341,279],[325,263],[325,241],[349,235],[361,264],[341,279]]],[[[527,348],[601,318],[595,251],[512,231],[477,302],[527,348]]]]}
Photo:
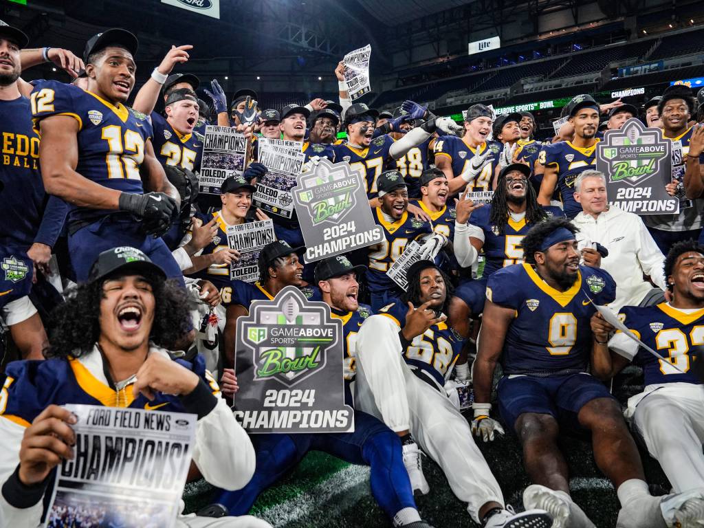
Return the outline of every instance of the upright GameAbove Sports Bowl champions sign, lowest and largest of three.
{"type": "Polygon", "coordinates": [[[234,416],[250,433],[352,432],[342,323],[288,286],[237,319],[234,416]]]}

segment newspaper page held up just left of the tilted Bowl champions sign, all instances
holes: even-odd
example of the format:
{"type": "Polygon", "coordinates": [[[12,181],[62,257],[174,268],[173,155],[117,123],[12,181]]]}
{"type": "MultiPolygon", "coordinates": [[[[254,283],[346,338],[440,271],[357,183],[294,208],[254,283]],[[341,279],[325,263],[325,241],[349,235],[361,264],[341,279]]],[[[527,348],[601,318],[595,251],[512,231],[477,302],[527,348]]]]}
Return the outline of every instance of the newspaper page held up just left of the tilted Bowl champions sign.
{"type": "Polygon", "coordinates": [[[303,142],[265,137],[260,137],[257,141],[259,163],[268,168],[268,172],[257,180],[257,190],[252,196],[253,205],[267,213],[291,218],[294,213],[291,187],[296,185],[306,160],[302,151],[303,142]]]}

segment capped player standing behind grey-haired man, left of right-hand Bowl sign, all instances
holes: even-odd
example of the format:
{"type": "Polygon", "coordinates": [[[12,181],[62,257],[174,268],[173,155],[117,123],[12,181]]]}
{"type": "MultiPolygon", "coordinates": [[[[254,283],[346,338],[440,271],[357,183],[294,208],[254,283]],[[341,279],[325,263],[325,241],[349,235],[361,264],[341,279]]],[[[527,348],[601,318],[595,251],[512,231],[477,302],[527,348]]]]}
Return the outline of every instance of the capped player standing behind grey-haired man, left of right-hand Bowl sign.
{"type": "Polygon", "coordinates": [[[578,95],[565,107],[569,123],[574,127],[572,141],[544,146],[538,161],[545,166],[538,202],[549,206],[555,189],[559,189],[562,208],[567,218],[574,218],[582,207],[574,201],[574,180],[579,172],[596,163],[596,129],[599,125],[599,106],[589,95],[578,95]]]}

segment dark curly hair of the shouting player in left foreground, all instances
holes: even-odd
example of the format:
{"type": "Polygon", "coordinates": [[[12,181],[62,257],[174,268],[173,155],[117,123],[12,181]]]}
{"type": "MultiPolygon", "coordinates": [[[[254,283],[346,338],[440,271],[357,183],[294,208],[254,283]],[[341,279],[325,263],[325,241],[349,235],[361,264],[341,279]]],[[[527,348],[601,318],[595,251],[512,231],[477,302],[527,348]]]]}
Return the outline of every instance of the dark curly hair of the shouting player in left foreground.
{"type": "MultiPolygon", "coordinates": [[[[171,348],[191,329],[191,301],[187,291],[175,280],[144,274],[151,284],[155,306],[149,339],[171,348]]],[[[66,295],[66,302],[51,312],[47,331],[47,358],[78,358],[92,350],[100,337],[100,303],[106,279],[78,284],[66,295]]]]}

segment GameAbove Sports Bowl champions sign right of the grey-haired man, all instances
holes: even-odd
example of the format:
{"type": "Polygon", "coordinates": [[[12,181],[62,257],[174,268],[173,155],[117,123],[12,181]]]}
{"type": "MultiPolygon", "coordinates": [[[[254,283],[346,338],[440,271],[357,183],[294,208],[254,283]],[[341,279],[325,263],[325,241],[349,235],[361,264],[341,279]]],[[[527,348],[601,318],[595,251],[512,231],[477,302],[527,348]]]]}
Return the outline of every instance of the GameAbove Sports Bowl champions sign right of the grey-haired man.
{"type": "Polygon", "coordinates": [[[670,149],[659,128],[636,118],[607,130],[596,147],[596,169],[606,175],[609,203],[637,215],[679,213],[679,200],[665,190],[672,180],[670,149]]]}

